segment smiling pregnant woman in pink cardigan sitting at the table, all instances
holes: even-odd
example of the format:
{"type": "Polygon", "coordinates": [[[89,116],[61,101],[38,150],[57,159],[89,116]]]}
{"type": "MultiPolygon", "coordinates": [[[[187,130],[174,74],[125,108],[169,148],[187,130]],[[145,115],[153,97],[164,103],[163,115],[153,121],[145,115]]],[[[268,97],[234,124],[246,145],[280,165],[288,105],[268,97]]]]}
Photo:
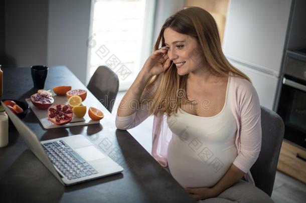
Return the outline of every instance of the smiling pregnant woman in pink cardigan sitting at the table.
{"type": "Polygon", "coordinates": [[[152,156],[195,199],[272,201],[250,173],[261,147],[257,93],[225,58],[205,10],[187,8],[166,20],[120,102],[116,127],[133,128],[149,115],[152,156]]]}

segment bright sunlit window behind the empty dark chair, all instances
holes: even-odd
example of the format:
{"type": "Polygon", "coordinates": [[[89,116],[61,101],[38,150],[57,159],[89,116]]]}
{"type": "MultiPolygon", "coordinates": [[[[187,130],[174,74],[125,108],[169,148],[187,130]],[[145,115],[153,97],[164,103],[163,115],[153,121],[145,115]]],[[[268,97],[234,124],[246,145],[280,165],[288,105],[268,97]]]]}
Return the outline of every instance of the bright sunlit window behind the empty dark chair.
{"type": "Polygon", "coordinates": [[[106,65],[127,90],[152,50],[155,1],[96,0],[93,2],[87,82],[98,66],[106,65]]]}

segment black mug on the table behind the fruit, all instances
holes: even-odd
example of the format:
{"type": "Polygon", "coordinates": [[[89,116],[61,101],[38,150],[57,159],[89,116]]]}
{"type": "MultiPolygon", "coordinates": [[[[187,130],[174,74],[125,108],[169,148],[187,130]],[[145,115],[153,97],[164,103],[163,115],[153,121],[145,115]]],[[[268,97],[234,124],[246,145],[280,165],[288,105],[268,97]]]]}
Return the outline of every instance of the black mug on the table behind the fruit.
{"type": "Polygon", "coordinates": [[[33,79],[34,88],[44,89],[45,81],[48,74],[47,66],[32,66],[31,74],[33,79]]]}

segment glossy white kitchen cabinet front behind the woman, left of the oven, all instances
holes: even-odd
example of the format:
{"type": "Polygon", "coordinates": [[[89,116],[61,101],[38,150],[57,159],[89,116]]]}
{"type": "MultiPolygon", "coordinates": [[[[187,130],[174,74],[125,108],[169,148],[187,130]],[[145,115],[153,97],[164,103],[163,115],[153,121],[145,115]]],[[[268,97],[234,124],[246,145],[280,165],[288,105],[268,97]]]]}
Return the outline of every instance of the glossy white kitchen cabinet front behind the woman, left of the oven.
{"type": "Polygon", "coordinates": [[[260,104],[273,109],[290,16],[290,0],[232,0],[223,52],[249,76],[260,104]]]}

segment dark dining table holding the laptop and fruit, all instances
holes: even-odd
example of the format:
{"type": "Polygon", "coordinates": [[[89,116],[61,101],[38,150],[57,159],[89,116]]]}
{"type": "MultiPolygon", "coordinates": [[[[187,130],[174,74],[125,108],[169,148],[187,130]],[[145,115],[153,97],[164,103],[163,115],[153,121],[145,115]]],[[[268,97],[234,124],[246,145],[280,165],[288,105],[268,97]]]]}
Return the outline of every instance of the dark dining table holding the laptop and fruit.
{"type": "MultiPolygon", "coordinates": [[[[30,67],[5,67],[3,75],[1,100],[25,102],[37,92],[30,67]]],[[[49,67],[44,89],[60,85],[87,90],[87,103],[100,106],[104,118],[95,124],[44,129],[30,109],[22,121],[40,141],[81,134],[122,166],[123,171],[64,186],[34,155],[11,123],[9,144],[0,148],[1,202],[196,202],[129,132],[116,128],[115,117],[67,67],[49,67]]]]}

